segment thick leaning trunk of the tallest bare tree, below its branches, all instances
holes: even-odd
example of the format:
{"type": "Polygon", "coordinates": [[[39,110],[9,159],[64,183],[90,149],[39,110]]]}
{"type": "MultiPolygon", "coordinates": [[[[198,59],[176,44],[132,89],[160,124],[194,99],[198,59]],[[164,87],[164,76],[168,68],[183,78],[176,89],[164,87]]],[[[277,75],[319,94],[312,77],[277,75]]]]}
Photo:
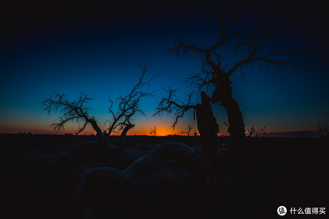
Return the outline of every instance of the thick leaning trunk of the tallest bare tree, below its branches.
{"type": "Polygon", "coordinates": [[[227,112],[228,132],[230,133],[229,145],[235,150],[237,156],[250,156],[252,152],[246,142],[242,112],[237,100],[232,97],[231,85],[217,85],[211,100],[212,102],[219,102],[227,112]]]}

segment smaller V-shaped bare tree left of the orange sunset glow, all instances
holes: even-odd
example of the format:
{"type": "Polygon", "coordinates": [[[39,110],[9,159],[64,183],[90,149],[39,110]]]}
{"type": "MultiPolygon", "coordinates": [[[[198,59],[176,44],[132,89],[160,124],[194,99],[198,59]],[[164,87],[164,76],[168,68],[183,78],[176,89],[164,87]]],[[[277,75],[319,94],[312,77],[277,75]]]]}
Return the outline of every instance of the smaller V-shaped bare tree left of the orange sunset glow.
{"type": "Polygon", "coordinates": [[[54,92],[54,96],[51,95],[49,98],[43,97],[44,100],[39,102],[43,111],[47,112],[48,115],[50,115],[51,112],[60,115],[60,117],[58,117],[57,120],[55,120],[54,123],[50,125],[50,127],[54,131],[65,131],[64,125],[67,122],[71,121],[80,123],[83,121],[84,124],[79,124],[78,129],[75,131],[76,135],[83,132],[86,128],[86,125],[90,123],[92,128],[96,131],[96,135],[98,136],[99,141],[103,142],[104,145],[108,145],[109,135],[111,135],[113,132],[121,132],[121,136],[117,142],[117,144],[120,144],[128,130],[135,126],[135,124],[132,123],[132,116],[136,112],[139,112],[142,116],[146,117],[145,111],[140,108],[140,101],[150,98],[155,99],[157,97],[157,90],[150,90],[150,82],[159,74],[150,78],[149,80],[144,80],[144,76],[149,69],[149,66],[146,66],[144,61],[140,61],[141,64],[133,62],[141,68],[141,73],[139,74],[139,80],[137,81],[136,86],[128,95],[123,96],[120,94],[114,100],[118,103],[117,111],[114,111],[114,102],[109,98],[111,102],[109,111],[113,116],[113,120],[107,120],[110,122],[109,128],[101,129],[98,126],[94,116],[91,116],[93,110],[88,106],[88,104],[93,100],[93,98],[89,98],[88,95],[81,93],[78,99],[69,100],[67,97],[68,95],[56,92],[54,92]]]}

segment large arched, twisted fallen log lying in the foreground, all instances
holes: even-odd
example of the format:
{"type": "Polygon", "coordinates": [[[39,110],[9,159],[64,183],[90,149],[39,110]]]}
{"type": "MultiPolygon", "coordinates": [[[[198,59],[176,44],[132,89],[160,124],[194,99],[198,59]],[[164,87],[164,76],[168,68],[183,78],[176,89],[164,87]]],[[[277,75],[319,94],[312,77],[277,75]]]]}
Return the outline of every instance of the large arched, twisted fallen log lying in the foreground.
{"type": "Polygon", "coordinates": [[[204,187],[212,187],[209,177],[212,168],[207,159],[196,151],[180,142],[167,142],[159,144],[145,157],[139,158],[125,170],[112,167],[96,167],[82,176],[82,182],[75,191],[75,206],[85,218],[92,218],[91,206],[102,198],[104,194],[115,190],[116,187],[125,186],[133,182],[140,172],[148,171],[159,164],[161,159],[170,158],[185,166],[194,180],[204,187]],[[106,192],[105,192],[106,191],[106,192]]]}

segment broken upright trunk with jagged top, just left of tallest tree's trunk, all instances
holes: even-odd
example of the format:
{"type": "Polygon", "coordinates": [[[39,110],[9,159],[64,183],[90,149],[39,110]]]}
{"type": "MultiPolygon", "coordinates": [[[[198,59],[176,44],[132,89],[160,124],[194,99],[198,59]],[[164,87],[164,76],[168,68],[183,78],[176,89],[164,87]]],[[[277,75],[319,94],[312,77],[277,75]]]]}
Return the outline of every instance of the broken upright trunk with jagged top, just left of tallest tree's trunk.
{"type": "Polygon", "coordinates": [[[206,154],[213,168],[217,167],[221,161],[219,152],[217,133],[219,133],[218,123],[213,114],[208,95],[201,91],[201,104],[196,105],[196,120],[201,137],[202,153],[206,154]]]}

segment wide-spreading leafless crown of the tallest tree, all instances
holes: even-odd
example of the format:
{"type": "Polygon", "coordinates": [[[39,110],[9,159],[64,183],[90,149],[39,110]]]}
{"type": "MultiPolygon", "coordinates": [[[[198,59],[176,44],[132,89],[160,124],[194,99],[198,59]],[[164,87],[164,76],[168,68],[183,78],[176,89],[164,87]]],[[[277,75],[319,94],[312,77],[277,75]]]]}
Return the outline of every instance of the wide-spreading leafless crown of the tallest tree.
{"type": "Polygon", "coordinates": [[[214,44],[207,48],[199,48],[194,44],[188,44],[181,38],[175,42],[175,47],[170,48],[168,53],[186,57],[190,54],[192,59],[201,68],[199,73],[187,78],[186,84],[200,93],[209,94],[213,86],[222,83],[232,83],[233,78],[246,80],[246,73],[252,72],[257,64],[260,70],[269,71],[269,65],[285,71],[286,66],[305,68],[319,68],[309,66],[309,58],[328,58],[316,51],[291,49],[284,45],[287,41],[288,29],[296,23],[291,16],[281,21],[271,21],[269,15],[262,22],[258,22],[256,28],[250,28],[242,33],[228,32],[240,16],[236,13],[231,16],[227,11],[219,14],[219,32],[214,44]],[[248,69],[244,69],[247,67],[248,69]]]}

